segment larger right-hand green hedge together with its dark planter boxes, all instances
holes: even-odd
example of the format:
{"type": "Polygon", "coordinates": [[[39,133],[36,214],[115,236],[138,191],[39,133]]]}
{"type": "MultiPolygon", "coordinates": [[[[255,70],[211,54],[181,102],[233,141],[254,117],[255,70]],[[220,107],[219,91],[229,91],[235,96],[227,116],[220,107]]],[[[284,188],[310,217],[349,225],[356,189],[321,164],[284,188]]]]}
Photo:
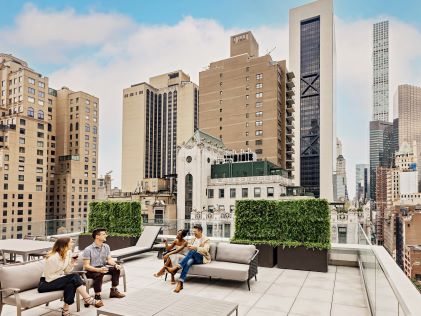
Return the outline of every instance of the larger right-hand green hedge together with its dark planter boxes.
{"type": "Polygon", "coordinates": [[[259,266],[327,272],[330,213],[326,200],[242,200],[236,203],[235,215],[232,242],[256,245],[261,250],[259,266]],[[273,251],[276,255],[270,261],[273,251]]]}

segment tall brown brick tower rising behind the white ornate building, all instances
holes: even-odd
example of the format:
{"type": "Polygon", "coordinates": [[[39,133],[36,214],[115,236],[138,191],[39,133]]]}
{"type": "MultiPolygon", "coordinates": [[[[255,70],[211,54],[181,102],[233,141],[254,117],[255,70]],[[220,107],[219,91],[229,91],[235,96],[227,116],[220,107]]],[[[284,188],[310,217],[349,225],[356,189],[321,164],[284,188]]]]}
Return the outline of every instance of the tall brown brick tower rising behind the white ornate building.
{"type": "Polygon", "coordinates": [[[294,75],[259,56],[251,32],[231,36],[230,57],[199,74],[199,127],[237,152],[251,150],[293,176],[294,75]]]}

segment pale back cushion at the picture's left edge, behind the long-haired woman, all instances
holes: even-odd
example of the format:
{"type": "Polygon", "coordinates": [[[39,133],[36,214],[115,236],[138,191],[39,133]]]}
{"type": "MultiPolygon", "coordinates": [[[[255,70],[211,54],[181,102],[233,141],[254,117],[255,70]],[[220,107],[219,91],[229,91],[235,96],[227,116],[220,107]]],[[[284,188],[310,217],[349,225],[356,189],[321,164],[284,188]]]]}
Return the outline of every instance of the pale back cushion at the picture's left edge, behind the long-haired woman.
{"type": "Polygon", "coordinates": [[[43,271],[44,260],[3,266],[0,268],[1,287],[18,288],[21,292],[38,288],[43,271]]]}

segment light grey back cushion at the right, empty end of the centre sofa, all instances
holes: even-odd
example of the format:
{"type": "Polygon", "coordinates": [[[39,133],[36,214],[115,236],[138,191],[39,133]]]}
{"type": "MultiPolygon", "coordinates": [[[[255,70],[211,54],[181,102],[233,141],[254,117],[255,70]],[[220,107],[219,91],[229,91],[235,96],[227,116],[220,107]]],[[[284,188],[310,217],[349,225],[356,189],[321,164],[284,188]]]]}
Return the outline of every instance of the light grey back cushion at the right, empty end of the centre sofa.
{"type": "Polygon", "coordinates": [[[219,243],[216,260],[249,264],[255,252],[256,246],[254,245],[219,243]]]}

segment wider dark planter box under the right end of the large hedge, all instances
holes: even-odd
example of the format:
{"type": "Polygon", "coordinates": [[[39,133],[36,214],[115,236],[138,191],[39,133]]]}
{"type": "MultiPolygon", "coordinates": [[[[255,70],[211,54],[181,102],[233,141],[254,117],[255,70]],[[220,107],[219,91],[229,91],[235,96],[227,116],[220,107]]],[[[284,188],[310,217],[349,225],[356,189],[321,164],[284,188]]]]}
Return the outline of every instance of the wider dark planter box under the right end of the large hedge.
{"type": "Polygon", "coordinates": [[[278,247],[278,268],[327,272],[327,265],[327,250],[308,249],[303,246],[278,247]]]}

